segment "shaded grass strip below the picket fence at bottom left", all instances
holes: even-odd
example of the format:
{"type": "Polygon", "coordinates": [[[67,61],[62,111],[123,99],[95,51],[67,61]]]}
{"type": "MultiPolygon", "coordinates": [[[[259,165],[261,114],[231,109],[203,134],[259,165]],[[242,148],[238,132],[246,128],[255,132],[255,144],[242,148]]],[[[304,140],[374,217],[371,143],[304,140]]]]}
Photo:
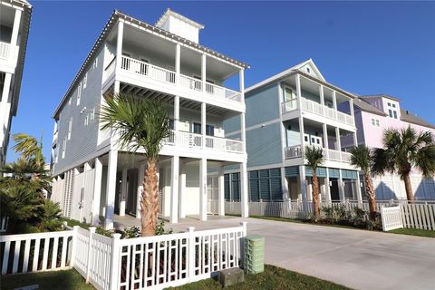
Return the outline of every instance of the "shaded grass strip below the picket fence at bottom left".
{"type": "Polygon", "coordinates": [[[14,289],[28,285],[39,285],[38,289],[94,289],[86,284],[82,275],[75,270],[51,271],[24,275],[2,275],[2,290],[14,289]]]}

